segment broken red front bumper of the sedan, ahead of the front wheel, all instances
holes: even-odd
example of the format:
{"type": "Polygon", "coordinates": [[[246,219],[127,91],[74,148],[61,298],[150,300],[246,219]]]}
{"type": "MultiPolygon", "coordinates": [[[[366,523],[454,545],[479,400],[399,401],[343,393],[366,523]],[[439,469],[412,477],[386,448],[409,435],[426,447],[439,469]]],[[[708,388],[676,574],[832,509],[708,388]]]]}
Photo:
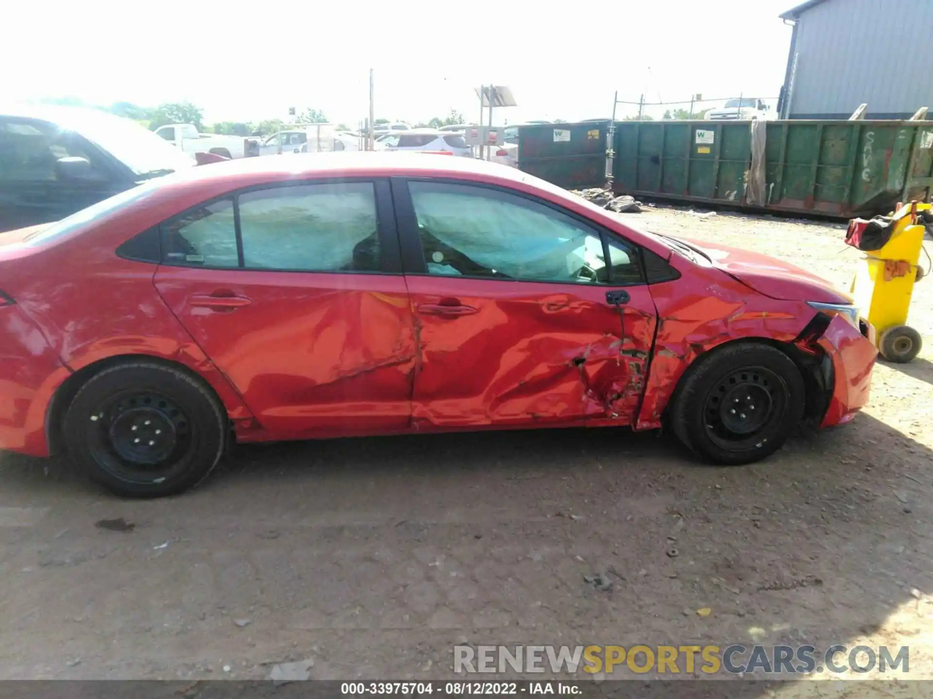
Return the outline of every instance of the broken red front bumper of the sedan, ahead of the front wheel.
{"type": "Polygon", "coordinates": [[[820,427],[842,425],[868,403],[871,370],[878,349],[868,337],[839,316],[829,322],[817,344],[832,361],[833,369],[832,395],[820,427]]]}

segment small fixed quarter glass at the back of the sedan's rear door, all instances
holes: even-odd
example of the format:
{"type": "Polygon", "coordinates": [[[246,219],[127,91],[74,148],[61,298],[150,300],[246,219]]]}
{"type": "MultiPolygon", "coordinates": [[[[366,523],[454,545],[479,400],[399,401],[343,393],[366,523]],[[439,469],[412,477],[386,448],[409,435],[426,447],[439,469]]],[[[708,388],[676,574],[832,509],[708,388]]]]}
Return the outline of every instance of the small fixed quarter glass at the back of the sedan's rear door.
{"type": "Polygon", "coordinates": [[[162,226],[166,265],[238,267],[233,202],[221,199],[162,226]]]}

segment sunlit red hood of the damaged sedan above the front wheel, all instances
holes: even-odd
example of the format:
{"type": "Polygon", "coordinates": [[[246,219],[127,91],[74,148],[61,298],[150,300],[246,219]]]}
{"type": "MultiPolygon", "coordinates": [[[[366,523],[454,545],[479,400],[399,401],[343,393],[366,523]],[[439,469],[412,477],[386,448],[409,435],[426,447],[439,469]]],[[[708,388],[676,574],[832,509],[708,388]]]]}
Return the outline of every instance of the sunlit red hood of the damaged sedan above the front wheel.
{"type": "Polygon", "coordinates": [[[684,242],[709,257],[714,267],[759,294],[786,301],[815,301],[827,304],[853,302],[851,296],[842,293],[829,281],[766,254],[711,244],[705,240],[684,242]]]}

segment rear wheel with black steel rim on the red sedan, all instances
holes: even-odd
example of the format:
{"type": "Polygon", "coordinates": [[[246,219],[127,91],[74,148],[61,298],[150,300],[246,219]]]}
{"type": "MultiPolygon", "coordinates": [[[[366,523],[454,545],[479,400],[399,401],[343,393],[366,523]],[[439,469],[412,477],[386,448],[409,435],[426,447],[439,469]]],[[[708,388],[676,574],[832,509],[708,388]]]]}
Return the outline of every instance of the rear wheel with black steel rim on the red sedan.
{"type": "Polygon", "coordinates": [[[194,487],[219,462],[228,418],[215,393],[181,369],[111,366],[77,391],[64,416],[68,456],[92,481],[131,498],[194,487]]]}

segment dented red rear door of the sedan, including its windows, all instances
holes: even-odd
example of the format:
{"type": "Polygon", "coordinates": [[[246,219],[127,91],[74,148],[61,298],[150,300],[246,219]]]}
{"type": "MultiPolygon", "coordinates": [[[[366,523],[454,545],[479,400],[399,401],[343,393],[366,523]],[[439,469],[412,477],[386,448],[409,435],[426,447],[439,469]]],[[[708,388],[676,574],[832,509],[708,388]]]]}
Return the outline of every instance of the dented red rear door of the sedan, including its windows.
{"type": "Polygon", "coordinates": [[[399,432],[416,353],[387,181],[243,190],[162,225],[160,295],[273,438],[399,432]]]}

